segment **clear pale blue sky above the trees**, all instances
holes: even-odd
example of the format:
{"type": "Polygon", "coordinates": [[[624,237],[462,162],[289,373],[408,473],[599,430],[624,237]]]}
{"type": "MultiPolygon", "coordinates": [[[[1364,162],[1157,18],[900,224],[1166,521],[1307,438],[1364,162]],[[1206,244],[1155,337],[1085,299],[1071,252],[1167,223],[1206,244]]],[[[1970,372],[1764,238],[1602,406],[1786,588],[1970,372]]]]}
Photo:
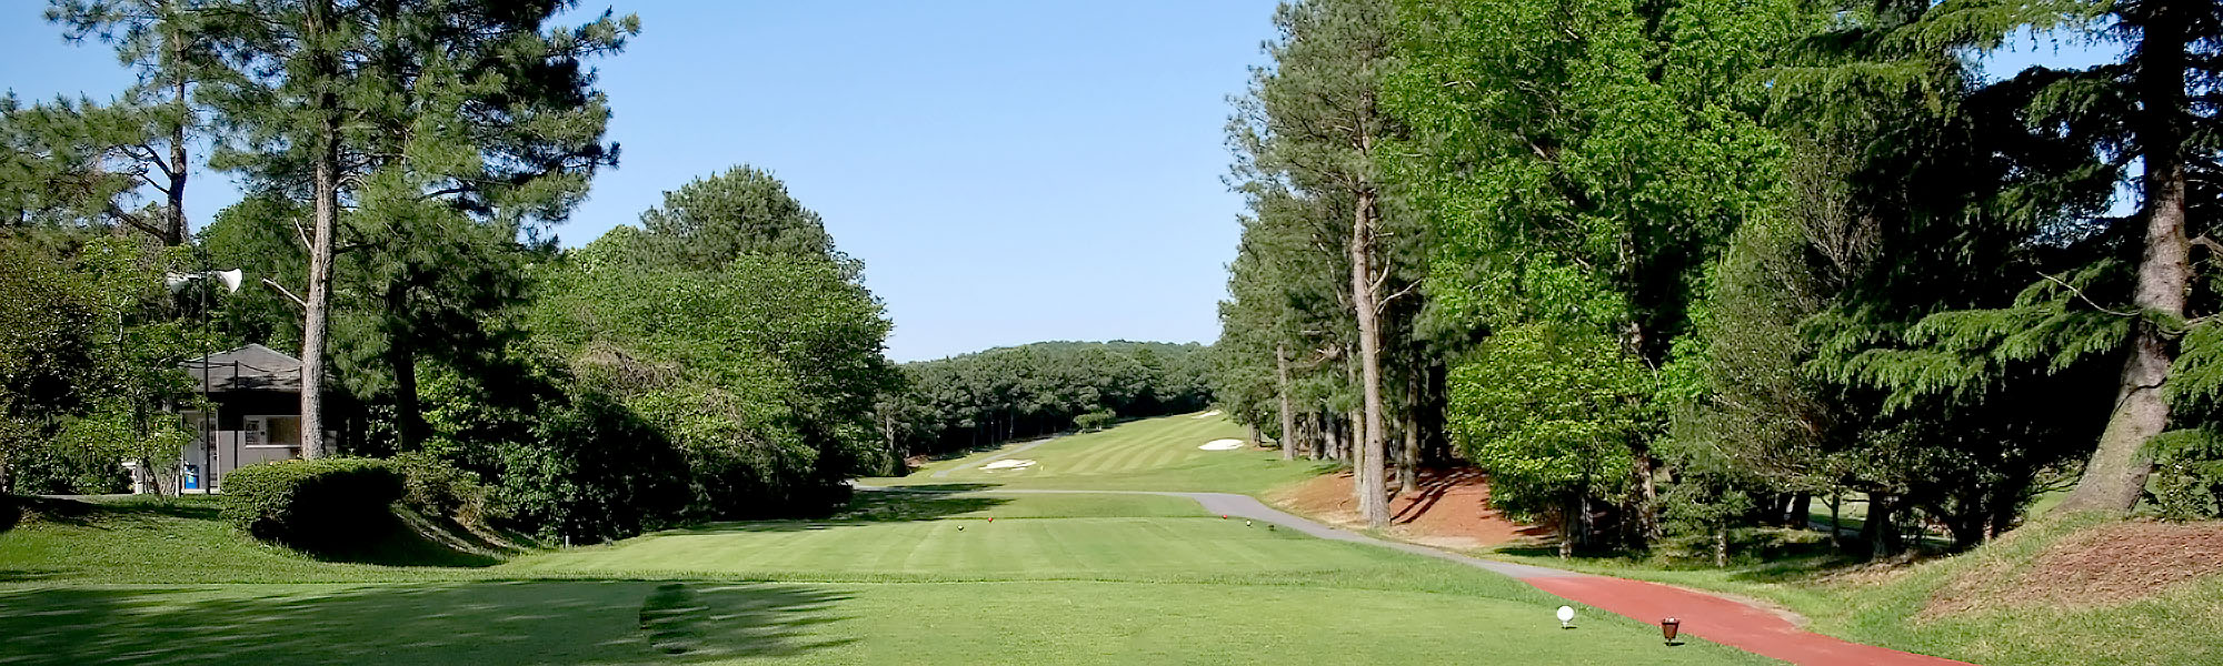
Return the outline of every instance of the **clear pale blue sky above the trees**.
{"type": "MultiPolygon", "coordinates": [[[[0,87],[107,100],[131,75],[0,9],[0,87]]],[[[1225,98],[1263,62],[1272,0],[582,2],[638,13],[600,60],[622,144],[560,226],[638,224],[662,191],[774,171],[827,220],[896,322],[894,360],[1034,340],[1218,337],[1243,200],[1225,98]]],[[[238,198],[202,175],[200,222],[238,198]]]]}

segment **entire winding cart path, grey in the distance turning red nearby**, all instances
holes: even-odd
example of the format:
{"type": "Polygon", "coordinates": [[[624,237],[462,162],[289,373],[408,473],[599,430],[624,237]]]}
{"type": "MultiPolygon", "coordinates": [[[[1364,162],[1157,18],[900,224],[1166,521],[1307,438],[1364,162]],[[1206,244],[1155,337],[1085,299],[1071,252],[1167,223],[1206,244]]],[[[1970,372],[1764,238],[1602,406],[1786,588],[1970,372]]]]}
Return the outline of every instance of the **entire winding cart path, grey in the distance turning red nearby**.
{"type": "MultiPolygon", "coordinates": [[[[1018,451],[1014,451],[1018,453],[1018,451]]],[[[1636,622],[1656,624],[1663,617],[1681,619],[1681,630],[1696,635],[1716,644],[1741,648],[1754,655],[1774,657],[1792,664],[1816,664],[1816,666],[1863,666],[1863,664],[1963,664],[1943,657],[1901,653],[1892,648],[1878,648],[1867,644],[1854,644],[1838,637],[1827,637],[1798,628],[1792,619],[1745,602],[1716,597],[1698,591],[1663,586],[1638,579],[1623,579],[1609,575],[1589,575],[1549,566],[1496,562],[1483,557],[1467,557],[1449,551],[1436,551],[1420,544],[1389,542],[1367,537],[1354,531],[1325,526],[1258,502],[1258,497],[1234,495],[1234,493],[1165,493],[1165,491],[934,491],[934,488],[903,488],[903,486],[856,486],[858,491],[896,491],[896,493],[980,493],[980,495],[1165,495],[1165,497],[1187,497],[1203,504],[1207,513],[1218,513],[1225,517],[1263,519],[1269,524],[1287,526],[1320,539],[1369,544],[1380,548],[1405,551],[1414,555],[1449,559],[1467,564],[1474,568],[1509,575],[1538,591],[1574,599],[1594,608],[1612,610],[1616,615],[1627,615],[1636,622]]],[[[1581,622],[1581,619],[1576,619],[1581,622]]]]}

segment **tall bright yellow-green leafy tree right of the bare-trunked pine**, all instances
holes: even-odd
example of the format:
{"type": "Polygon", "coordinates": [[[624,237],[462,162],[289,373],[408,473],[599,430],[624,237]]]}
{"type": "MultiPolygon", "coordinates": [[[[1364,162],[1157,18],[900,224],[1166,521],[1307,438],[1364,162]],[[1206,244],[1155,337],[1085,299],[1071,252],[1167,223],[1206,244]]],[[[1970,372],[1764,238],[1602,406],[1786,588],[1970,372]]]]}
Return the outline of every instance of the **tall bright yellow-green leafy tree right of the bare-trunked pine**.
{"type": "MultiPolygon", "coordinates": [[[[1383,104],[1412,140],[1385,158],[1441,240],[1429,317],[1449,331],[1434,335],[1578,326],[1618,340],[1641,369],[1663,366],[1707,264],[1767,209],[1781,144],[1754,120],[1750,75],[1798,13],[1776,2],[1414,0],[1398,16],[1400,69],[1383,104]]],[[[1472,402],[1458,391],[1452,404],[1472,402]]],[[[1649,435],[1625,444],[1629,515],[1649,535],[1656,455],[1649,435]]]]}

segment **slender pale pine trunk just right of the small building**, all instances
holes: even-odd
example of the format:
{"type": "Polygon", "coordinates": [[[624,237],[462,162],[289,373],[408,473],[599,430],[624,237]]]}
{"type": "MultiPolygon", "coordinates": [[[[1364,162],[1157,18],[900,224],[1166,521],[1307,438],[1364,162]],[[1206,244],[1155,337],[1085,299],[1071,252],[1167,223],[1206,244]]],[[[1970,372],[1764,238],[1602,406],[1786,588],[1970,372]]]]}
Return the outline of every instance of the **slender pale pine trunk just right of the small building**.
{"type": "Polygon", "coordinates": [[[322,44],[327,40],[325,31],[331,29],[325,24],[329,11],[329,4],[311,2],[307,20],[309,49],[320,51],[313,58],[316,75],[325,75],[331,82],[316,93],[318,147],[316,171],[311,175],[316,238],[309,242],[309,300],[305,302],[307,315],[302,317],[300,333],[302,457],[325,457],[331,453],[325,446],[325,333],[331,329],[331,235],[340,222],[340,98],[331,89],[338,84],[340,67],[331,47],[322,44]]]}

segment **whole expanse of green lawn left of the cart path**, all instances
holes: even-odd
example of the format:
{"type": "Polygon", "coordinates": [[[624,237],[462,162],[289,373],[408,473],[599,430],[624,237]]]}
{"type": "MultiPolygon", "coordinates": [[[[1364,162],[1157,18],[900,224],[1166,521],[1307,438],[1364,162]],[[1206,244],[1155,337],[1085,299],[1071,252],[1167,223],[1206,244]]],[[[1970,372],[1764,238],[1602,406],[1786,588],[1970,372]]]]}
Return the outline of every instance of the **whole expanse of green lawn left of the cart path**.
{"type": "MultiPolygon", "coordinates": [[[[1125,428],[1158,440],[1212,424],[1125,428]]],[[[1280,466],[1232,455],[1249,471],[1165,462],[1189,482],[1280,466]]],[[[494,566],[316,562],[205,504],[0,533],[0,664],[1767,664],[1667,648],[1598,610],[1561,630],[1558,604],[1485,571],[1156,495],[860,493],[829,519],[494,566]]]]}

